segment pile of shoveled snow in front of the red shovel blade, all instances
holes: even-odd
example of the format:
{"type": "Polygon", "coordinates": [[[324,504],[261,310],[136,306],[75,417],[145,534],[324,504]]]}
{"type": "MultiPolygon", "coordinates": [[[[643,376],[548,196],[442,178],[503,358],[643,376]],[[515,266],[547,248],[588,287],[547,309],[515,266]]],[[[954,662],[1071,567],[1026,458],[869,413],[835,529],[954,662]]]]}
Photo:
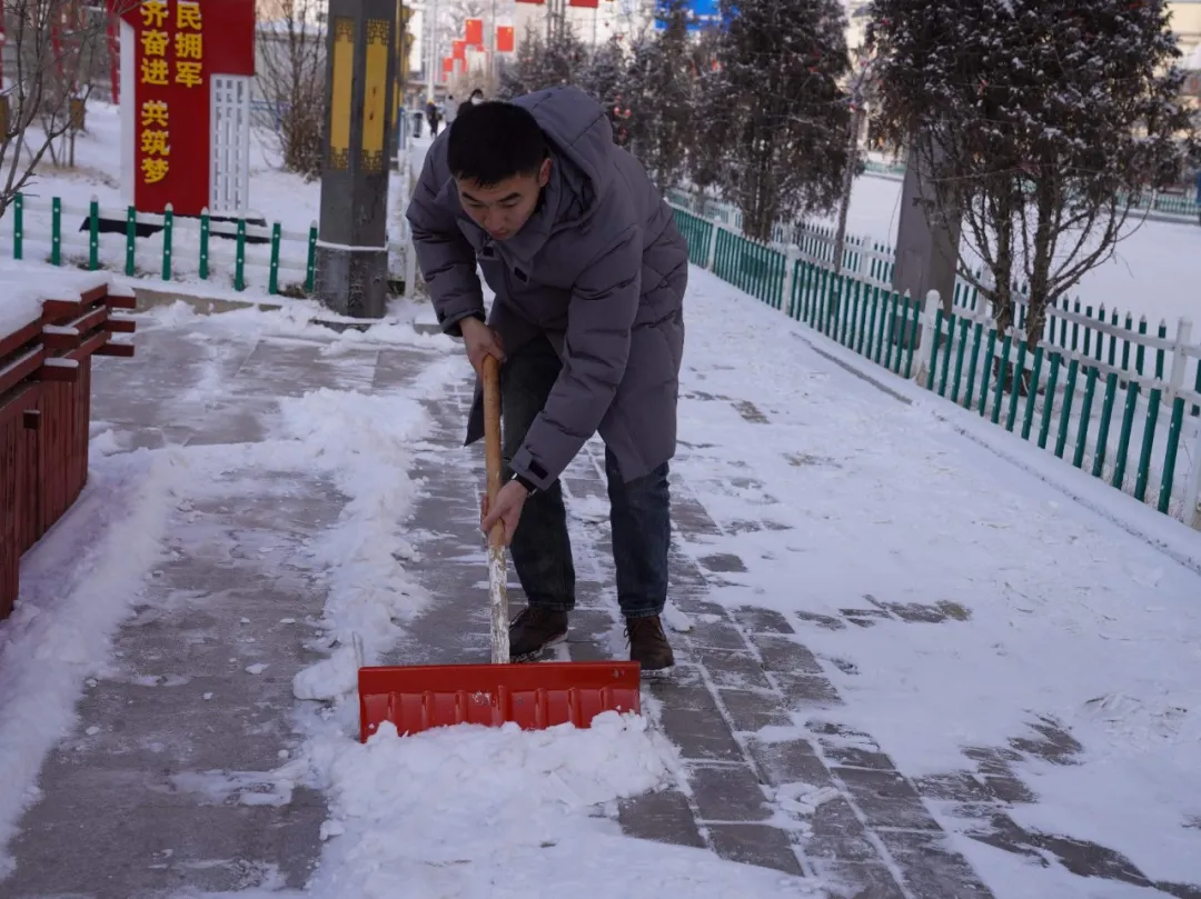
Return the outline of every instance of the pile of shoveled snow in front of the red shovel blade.
{"type": "MultiPolygon", "coordinates": [[[[600,814],[674,781],[671,745],[640,715],[592,727],[460,725],[365,743],[333,733],[274,773],[317,781],[330,817],[307,889],[241,899],[742,899],[820,897],[813,881],[621,835],[600,814]]],[[[195,895],[195,894],[190,894],[195,895]]]]}

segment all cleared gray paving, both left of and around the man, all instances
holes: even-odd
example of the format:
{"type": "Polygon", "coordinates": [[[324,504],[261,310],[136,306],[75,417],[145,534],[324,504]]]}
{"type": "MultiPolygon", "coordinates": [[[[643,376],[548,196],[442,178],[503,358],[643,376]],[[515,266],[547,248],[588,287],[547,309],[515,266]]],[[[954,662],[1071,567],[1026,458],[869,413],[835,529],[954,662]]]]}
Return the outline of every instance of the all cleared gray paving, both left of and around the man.
{"type": "MultiPolygon", "coordinates": [[[[362,347],[336,356],[322,349],[318,341],[217,342],[147,330],[132,362],[136,376],[130,360],[120,372],[97,371],[95,416],[133,445],[253,443],[263,439],[280,396],[318,386],[404,388],[434,358],[410,348],[362,347]]],[[[477,511],[482,451],[461,446],[468,396],[464,380],[454,395],[431,401],[437,427],[416,449],[413,474],[425,479],[426,493],[411,535],[420,558],[406,562],[406,570],[437,601],[408,625],[393,661],[489,658],[477,511]]],[[[685,402],[731,402],[748,426],[766,420],[746,401],[692,395],[685,402]]],[[[681,459],[688,451],[682,448],[681,459]]],[[[608,526],[592,514],[604,503],[602,472],[593,442],[564,477],[579,610],[560,652],[576,660],[626,651],[608,526]]],[[[283,480],[256,486],[251,474],[261,478],[234,466],[220,496],[173,519],[177,558],[161,567],[144,605],[121,629],[115,670],[89,685],[76,732],[48,759],[41,793],[11,846],[17,870],[0,881],[4,899],[133,899],[265,882],[299,887],[311,871],[325,817],[319,793],[298,789],[288,801],[264,805],[239,804],[233,795],[270,793],[264,772],[280,765],[280,750],[299,743],[291,678],[317,658],[307,643],[324,600],[305,574],[304,546],[336,521],[345,497],[317,475],[279,473],[283,480]],[[269,670],[247,678],[246,666],[259,660],[269,670]],[[231,786],[229,778],[179,777],[205,771],[240,773],[241,780],[231,786]]],[[[968,748],[973,769],[918,783],[896,771],[871,733],[837,724],[843,700],[827,677],[837,663],[811,652],[806,634],[948,621],[961,610],[886,603],[838,616],[727,609],[713,601],[713,591],[746,565],[715,553],[711,541],[773,526],[766,519],[721,520],[706,509],[716,496],[712,485],[674,477],[673,599],[694,627],[673,635],[680,659],[674,676],[645,687],[649,715],[680,749],[683,780],[598,814],[611,815],[633,837],[821,877],[856,899],[991,897],[957,851],[964,839],[1030,859],[1054,858],[1097,883],[1201,897],[1194,887],[1151,885],[1101,846],[1033,834],[1010,817],[1015,805],[1035,798],[1014,763],[1028,756],[1070,761],[1078,749],[1052,721],[1040,725],[1039,741],[968,748]],[[791,726],[797,715],[812,717],[805,737],[755,736],[765,726],[791,726]],[[946,807],[970,808],[991,827],[968,837],[944,833],[932,809],[946,807]]],[[[520,605],[516,585],[510,598],[520,605]]]]}

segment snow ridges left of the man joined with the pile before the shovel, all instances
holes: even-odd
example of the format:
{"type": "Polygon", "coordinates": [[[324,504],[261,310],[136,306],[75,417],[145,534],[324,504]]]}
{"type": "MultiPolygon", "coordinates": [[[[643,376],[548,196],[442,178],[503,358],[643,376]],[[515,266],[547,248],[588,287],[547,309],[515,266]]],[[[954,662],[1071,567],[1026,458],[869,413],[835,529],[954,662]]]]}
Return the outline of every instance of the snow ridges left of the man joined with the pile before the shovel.
{"type": "MultiPolygon", "coordinates": [[[[322,340],[333,355],[364,342],[420,342],[447,353],[408,390],[286,397],[261,443],[119,451],[109,431],[97,432],[89,486],[53,537],[24,559],[22,603],[0,624],[0,719],[12,725],[0,732],[0,844],[36,801],[38,767],[73,726],[84,681],[104,675],[112,636],[141,585],[171,557],[168,520],[186,519],[193,505],[219,496],[214,491],[228,490],[231,477],[317,472],[348,498],[337,522],[309,547],[328,588],[323,641],[340,648],[293,682],[299,699],[323,700],[298,713],[307,735],[303,748],[277,771],[255,775],[270,791],[237,799],[285,804],[301,784],[325,791],[325,852],[311,888],[297,897],[483,899],[550,888],[613,899],[821,895],[815,883],[778,871],[622,837],[615,823],[590,814],[598,803],[657,787],[675,769],[673,747],[640,717],[610,714],[585,731],[464,726],[404,739],[384,727],[359,744],[352,647],[362,641],[365,661],[377,663],[429,601],[399,561],[413,551],[405,521],[419,485],[408,471],[430,425],[419,400],[461,380],[461,349],[444,337],[389,328],[330,337],[287,310],[201,317],[177,304],[139,319],[143,337],[173,329],[205,346],[233,335],[303,336],[322,340]]],[[[203,406],[214,389],[205,382],[181,394],[180,414],[203,406]]],[[[209,772],[177,785],[232,801],[244,777],[209,772]]]]}

